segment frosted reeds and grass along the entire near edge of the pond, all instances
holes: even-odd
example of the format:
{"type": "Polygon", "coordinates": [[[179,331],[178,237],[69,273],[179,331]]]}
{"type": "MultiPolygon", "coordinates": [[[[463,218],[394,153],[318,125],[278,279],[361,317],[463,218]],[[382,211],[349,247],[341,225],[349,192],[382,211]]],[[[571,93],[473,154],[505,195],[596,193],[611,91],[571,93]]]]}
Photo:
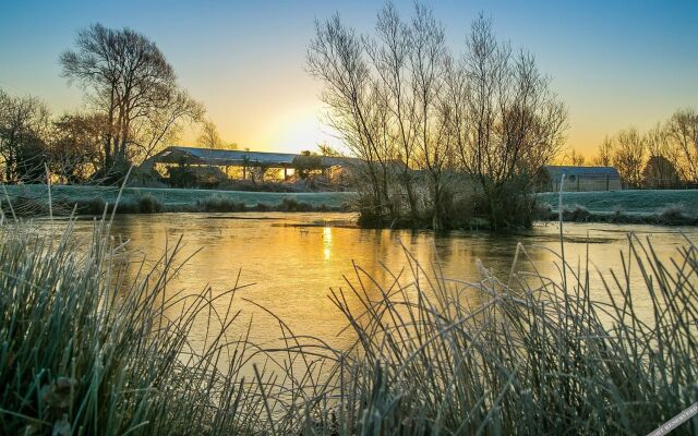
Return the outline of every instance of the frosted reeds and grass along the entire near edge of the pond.
{"type": "MultiPolygon", "coordinates": [[[[357,338],[349,350],[280,319],[286,346],[262,350],[226,334],[241,322],[238,287],[168,290],[177,244],[127,277],[107,220],[85,244],[70,225],[52,233],[2,219],[1,434],[646,434],[698,400],[690,241],[670,261],[630,237],[626,269],[601,289],[564,256],[557,278],[519,272],[522,247],[509,277],[481,267],[473,283],[406,253],[394,280],[356,267],[332,292],[357,338]],[[635,275],[643,286],[630,289],[635,275]],[[648,303],[649,319],[638,308],[648,303]],[[191,344],[202,318],[209,338],[191,344]]],[[[696,432],[694,419],[676,434],[696,432]]]]}

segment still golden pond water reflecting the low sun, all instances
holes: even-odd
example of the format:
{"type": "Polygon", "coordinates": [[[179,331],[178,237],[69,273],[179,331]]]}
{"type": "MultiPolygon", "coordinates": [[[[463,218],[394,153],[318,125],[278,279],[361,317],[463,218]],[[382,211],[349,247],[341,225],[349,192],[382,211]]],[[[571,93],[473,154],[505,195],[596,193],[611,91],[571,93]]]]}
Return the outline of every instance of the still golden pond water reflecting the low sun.
{"type": "MultiPolygon", "coordinates": [[[[348,346],[351,338],[338,336],[347,323],[327,296],[330,289],[346,291],[346,280],[356,283],[353,264],[388,286],[392,279],[387,271],[397,274],[408,266],[405,250],[428,271],[438,261],[446,277],[478,281],[481,270],[477,259],[493,275],[508,277],[520,242],[543,275],[559,277],[553,253],[559,251],[557,223],[538,225],[516,235],[435,235],[430,231],[358,229],[353,219],[351,214],[123,215],[116,218],[112,233],[130,241],[128,268],[132,275],[140,268],[140,259],[157,261],[181,237],[179,259],[195,254],[172,279],[172,292],[198,293],[209,288],[216,295],[236,283],[250,284],[238,291],[234,306],[254,317],[251,339],[257,343],[278,341],[278,323],[242,296],[279,316],[297,335],[318,337],[340,349],[348,346]]],[[[91,228],[89,221],[77,225],[79,232],[87,233],[91,228]]],[[[666,259],[676,257],[676,250],[686,244],[685,238],[698,242],[696,228],[566,223],[567,259],[583,266],[588,253],[590,264],[603,274],[610,269],[622,274],[621,252],[627,254],[630,230],[641,239],[649,238],[666,259]]],[[[527,262],[520,265],[521,269],[532,268],[527,262]]],[[[636,280],[640,282],[637,276],[636,280]]],[[[598,283],[597,274],[593,282],[598,283]]],[[[229,299],[219,301],[221,311],[228,302],[229,299]]],[[[205,328],[197,326],[194,334],[203,331],[205,328]]]]}

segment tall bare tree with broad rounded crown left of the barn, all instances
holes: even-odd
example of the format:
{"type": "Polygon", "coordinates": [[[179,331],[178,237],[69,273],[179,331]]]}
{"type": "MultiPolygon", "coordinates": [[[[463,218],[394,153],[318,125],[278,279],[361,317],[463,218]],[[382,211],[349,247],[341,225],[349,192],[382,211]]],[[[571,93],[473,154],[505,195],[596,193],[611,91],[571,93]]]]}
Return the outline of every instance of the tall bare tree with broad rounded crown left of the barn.
{"type": "Polygon", "coordinates": [[[88,92],[107,120],[105,173],[116,170],[118,174],[134,157],[149,155],[182,117],[194,113],[184,110],[182,114],[182,108],[194,105],[178,89],[174,71],[156,44],[130,28],[101,24],[83,28],[75,50],[63,52],[60,62],[63,75],[88,92]]]}

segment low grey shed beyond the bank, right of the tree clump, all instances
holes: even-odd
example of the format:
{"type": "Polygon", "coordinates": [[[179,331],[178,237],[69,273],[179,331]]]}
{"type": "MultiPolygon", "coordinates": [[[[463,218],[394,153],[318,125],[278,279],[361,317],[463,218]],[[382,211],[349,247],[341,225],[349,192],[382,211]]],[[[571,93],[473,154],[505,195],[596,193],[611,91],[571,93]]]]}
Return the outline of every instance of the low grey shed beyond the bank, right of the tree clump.
{"type": "Polygon", "coordinates": [[[559,183],[565,175],[564,191],[616,191],[623,189],[621,174],[613,167],[542,167],[535,180],[538,192],[559,191],[559,183]]]}

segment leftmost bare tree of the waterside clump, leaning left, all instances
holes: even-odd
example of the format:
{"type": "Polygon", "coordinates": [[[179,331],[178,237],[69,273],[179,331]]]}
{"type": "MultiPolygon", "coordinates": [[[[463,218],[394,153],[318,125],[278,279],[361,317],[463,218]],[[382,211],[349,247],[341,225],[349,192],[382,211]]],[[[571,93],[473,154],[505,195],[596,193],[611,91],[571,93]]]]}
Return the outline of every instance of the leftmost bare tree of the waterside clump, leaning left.
{"type": "Polygon", "coordinates": [[[395,153],[388,141],[387,100],[371,77],[362,38],[339,15],[316,22],[308,70],[325,84],[321,98],[329,108],[327,123],[363,161],[356,169],[358,179],[366,182],[358,185],[363,218],[389,219],[395,213],[388,189],[395,153]]]}

